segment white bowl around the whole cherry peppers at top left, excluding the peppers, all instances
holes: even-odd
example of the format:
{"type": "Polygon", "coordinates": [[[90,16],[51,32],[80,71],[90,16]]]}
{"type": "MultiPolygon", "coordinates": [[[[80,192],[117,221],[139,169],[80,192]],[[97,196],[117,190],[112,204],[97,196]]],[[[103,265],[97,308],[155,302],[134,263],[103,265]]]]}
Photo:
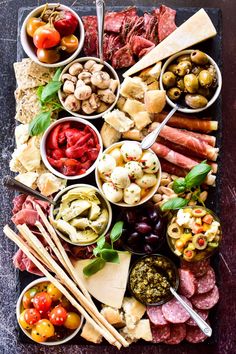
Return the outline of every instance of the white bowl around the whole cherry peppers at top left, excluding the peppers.
{"type": "MultiPolygon", "coordinates": [[[[48,7],[52,8],[52,7],[55,7],[56,5],[58,5],[58,3],[49,3],[48,7]]],[[[72,53],[65,60],[62,60],[62,61],[59,61],[59,62],[53,63],[53,64],[42,63],[41,61],[38,60],[38,57],[35,54],[35,46],[33,44],[32,38],[30,38],[27,35],[26,24],[27,24],[28,20],[31,17],[39,16],[39,14],[42,13],[44,7],[45,7],[45,5],[41,5],[41,6],[36,7],[33,11],[31,11],[28,14],[26,19],[24,20],[23,25],[21,27],[21,32],[20,32],[20,40],[21,40],[22,47],[23,47],[25,53],[28,55],[28,57],[30,57],[30,59],[32,59],[35,63],[37,63],[37,64],[39,64],[41,66],[46,66],[48,68],[56,68],[56,67],[59,67],[59,66],[67,65],[68,63],[70,63],[72,60],[74,60],[79,55],[79,53],[81,52],[81,50],[83,48],[85,34],[84,34],[84,26],[83,26],[82,20],[78,16],[78,14],[75,11],[73,11],[70,7],[65,6],[65,5],[60,5],[59,10],[69,10],[69,11],[71,11],[73,13],[73,15],[77,18],[78,22],[79,22],[78,23],[79,35],[80,35],[79,38],[78,38],[79,46],[76,49],[76,51],[74,53],[72,53]]]]}

